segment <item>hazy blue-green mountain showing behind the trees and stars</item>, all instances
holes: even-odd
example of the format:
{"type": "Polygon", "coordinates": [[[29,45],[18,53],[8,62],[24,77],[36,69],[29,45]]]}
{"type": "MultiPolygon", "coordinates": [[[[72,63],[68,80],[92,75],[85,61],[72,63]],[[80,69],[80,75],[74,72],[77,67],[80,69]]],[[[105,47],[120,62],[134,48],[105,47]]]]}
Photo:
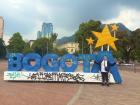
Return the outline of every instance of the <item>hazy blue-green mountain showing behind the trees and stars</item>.
{"type": "MultiPolygon", "coordinates": [[[[110,25],[112,25],[112,24],[110,24],[110,25]]],[[[116,25],[119,26],[119,31],[127,31],[128,35],[131,34],[131,30],[129,30],[124,24],[117,23],[116,25]]],[[[104,26],[105,26],[105,24],[102,24],[101,27],[104,27],[104,26]]],[[[72,35],[72,36],[68,36],[68,37],[62,37],[61,39],[56,40],[57,45],[62,45],[62,44],[68,43],[68,42],[75,42],[75,36],[72,35]]]]}

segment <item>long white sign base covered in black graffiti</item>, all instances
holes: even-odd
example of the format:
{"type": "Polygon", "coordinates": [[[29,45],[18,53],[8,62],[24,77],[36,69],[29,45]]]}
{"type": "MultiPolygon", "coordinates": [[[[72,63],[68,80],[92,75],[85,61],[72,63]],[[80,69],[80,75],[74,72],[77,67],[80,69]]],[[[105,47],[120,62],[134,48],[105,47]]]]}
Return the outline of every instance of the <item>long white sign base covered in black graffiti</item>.
{"type": "MultiPolygon", "coordinates": [[[[108,77],[110,83],[115,83],[112,74],[109,73],[108,77]]],[[[100,83],[102,82],[102,77],[101,73],[5,71],[4,80],[100,83]]]]}

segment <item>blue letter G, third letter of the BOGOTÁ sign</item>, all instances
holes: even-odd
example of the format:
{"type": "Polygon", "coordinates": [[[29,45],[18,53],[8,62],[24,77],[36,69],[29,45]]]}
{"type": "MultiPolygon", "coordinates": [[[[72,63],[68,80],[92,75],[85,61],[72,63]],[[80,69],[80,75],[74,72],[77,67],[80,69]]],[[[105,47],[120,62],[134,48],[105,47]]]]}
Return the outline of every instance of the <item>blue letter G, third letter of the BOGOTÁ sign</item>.
{"type": "Polygon", "coordinates": [[[46,71],[58,72],[59,71],[58,55],[46,54],[42,59],[42,66],[46,71]]]}

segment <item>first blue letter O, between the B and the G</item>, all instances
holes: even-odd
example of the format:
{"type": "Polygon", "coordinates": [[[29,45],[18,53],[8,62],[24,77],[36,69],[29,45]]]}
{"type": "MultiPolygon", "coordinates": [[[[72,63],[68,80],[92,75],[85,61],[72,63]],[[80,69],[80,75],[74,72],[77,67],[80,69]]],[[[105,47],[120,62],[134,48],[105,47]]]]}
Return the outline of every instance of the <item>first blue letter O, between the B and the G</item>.
{"type": "Polygon", "coordinates": [[[40,69],[40,62],[41,62],[41,56],[36,53],[29,53],[25,55],[23,58],[22,64],[23,69],[28,71],[37,71],[40,69]],[[30,64],[30,61],[35,61],[34,65],[30,64]]]}

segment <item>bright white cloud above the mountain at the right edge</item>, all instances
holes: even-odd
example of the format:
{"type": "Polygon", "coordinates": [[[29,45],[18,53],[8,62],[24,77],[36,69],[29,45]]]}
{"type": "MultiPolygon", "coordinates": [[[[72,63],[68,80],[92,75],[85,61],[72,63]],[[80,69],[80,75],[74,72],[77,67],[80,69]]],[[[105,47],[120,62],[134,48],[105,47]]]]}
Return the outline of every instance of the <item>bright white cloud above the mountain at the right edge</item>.
{"type": "Polygon", "coordinates": [[[122,8],[116,18],[105,20],[104,23],[123,23],[130,30],[140,28],[140,11],[132,8],[122,8]]]}

